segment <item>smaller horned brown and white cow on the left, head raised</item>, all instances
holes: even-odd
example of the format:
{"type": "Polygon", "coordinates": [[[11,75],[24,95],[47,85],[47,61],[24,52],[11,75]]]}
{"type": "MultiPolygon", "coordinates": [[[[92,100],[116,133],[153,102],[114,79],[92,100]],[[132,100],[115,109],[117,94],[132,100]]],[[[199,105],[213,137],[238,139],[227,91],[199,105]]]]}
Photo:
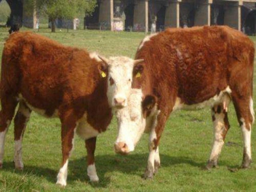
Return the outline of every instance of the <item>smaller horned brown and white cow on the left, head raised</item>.
{"type": "Polygon", "coordinates": [[[110,58],[108,64],[104,61],[95,53],[64,47],[34,33],[10,35],[1,65],[0,167],[4,138],[19,104],[14,118],[15,168],[24,167],[22,137],[31,111],[35,111],[61,121],[63,159],[57,184],[67,184],[74,132],[86,143],[90,180],[99,180],[94,164],[96,137],[111,122],[111,108],[127,106],[134,65],[134,60],[125,57],[110,58]]]}

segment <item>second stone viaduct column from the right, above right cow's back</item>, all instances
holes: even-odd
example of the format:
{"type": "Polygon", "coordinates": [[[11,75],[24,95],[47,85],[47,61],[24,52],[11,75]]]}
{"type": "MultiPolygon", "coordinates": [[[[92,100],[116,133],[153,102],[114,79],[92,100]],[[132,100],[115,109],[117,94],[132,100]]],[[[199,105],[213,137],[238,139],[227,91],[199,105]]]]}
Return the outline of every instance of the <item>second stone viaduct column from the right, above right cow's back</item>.
{"type": "Polygon", "coordinates": [[[212,0],[199,1],[195,13],[195,26],[211,25],[211,4],[212,0]]]}

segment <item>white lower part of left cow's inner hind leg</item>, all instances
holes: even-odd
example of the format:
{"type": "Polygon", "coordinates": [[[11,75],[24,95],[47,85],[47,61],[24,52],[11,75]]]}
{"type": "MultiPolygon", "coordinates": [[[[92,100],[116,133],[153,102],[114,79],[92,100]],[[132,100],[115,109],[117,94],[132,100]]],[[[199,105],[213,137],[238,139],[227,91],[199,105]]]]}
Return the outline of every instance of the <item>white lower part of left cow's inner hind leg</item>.
{"type": "Polygon", "coordinates": [[[20,140],[15,140],[14,164],[15,164],[15,168],[19,170],[22,170],[24,167],[22,162],[22,136],[20,137],[20,140]]]}

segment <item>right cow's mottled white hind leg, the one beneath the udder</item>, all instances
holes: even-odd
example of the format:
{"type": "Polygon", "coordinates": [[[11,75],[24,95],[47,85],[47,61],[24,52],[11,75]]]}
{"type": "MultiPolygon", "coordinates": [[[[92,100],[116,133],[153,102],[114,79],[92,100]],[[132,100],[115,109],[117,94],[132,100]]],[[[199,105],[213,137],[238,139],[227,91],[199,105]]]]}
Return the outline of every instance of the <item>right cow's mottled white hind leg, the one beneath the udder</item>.
{"type": "Polygon", "coordinates": [[[228,129],[230,127],[228,122],[228,104],[230,103],[229,97],[221,104],[216,104],[212,107],[212,122],[213,122],[213,144],[212,151],[206,168],[209,170],[212,167],[218,166],[218,157],[221,153],[224,140],[228,129]]]}

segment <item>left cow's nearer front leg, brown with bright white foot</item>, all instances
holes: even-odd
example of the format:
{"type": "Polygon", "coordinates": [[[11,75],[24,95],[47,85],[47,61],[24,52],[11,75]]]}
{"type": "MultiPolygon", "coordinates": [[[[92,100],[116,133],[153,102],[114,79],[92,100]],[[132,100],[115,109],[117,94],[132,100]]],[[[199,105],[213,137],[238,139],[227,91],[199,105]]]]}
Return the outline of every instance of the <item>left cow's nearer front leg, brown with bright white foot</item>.
{"type": "Polygon", "coordinates": [[[60,186],[67,185],[68,175],[68,158],[74,148],[74,133],[76,131],[77,118],[72,110],[66,111],[64,115],[60,115],[61,119],[61,148],[62,148],[62,163],[57,176],[56,184],[60,186]]]}

